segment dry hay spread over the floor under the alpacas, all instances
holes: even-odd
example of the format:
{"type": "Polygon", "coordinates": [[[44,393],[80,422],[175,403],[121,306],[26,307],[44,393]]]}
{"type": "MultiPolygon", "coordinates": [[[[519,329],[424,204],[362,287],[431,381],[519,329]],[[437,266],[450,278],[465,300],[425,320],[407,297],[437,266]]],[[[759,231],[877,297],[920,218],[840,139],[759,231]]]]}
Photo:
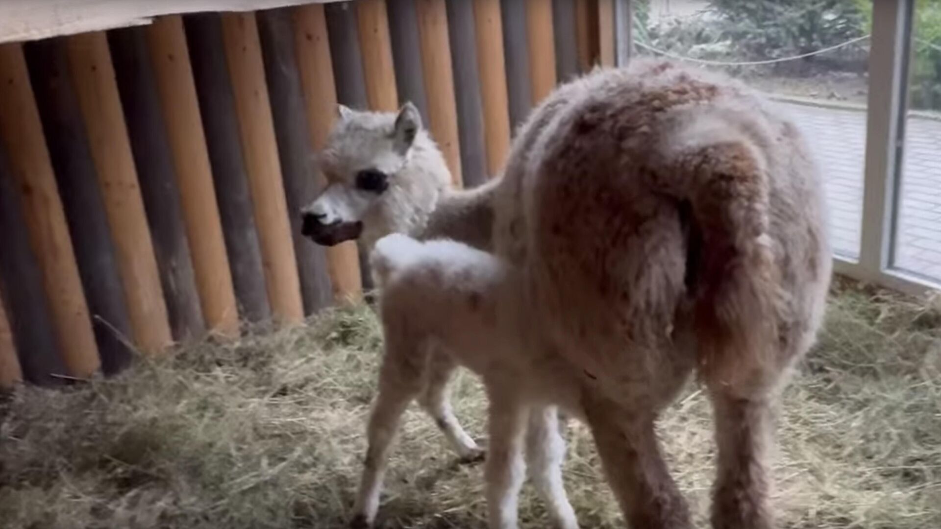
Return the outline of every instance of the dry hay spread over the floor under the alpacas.
{"type": "MultiPolygon", "coordinates": [[[[0,404],[4,528],[343,527],[363,452],[380,333],[365,308],[308,329],[200,344],[65,392],[0,404]]],[[[472,377],[458,417],[484,432],[472,377]]],[[[664,417],[680,486],[706,526],[708,402],[694,384],[664,417]]],[[[783,525],[941,527],[941,311],[843,285],[786,393],[776,473],[783,525]]],[[[584,428],[566,485],[583,527],[619,527],[584,428]]],[[[461,466],[413,408],[380,517],[389,527],[483,527],[480,466],[461,466]]],[[[524,526],[548,525],[530,488],[524,526]]]]}

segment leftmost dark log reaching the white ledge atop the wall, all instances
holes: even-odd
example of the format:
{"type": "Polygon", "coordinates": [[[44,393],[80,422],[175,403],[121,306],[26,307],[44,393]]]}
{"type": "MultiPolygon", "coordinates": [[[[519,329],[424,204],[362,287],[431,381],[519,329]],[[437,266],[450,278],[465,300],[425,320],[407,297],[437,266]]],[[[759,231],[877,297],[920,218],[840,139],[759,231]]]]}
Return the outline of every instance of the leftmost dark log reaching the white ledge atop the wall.
{"type": "Polygon", "coordinates": [[[24,45],[24,53],[69,223],[102,371],[111,375],[131,362],[131,321],[85,123],[69,81],[64,42],[36,40],[24,45]]]}

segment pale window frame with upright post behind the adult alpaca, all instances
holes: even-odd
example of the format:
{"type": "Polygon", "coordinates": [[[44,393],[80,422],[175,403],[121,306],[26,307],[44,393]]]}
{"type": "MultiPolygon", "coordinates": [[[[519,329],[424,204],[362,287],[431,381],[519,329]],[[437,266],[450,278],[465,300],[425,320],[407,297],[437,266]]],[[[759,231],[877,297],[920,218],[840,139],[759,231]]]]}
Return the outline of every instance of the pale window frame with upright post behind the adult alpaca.
{"type": "MultiPolygon", "coordinates": [[[[617,64],[632,55],[632,0],[616,0],[617,64]]],[[[892,267],[901,187],[901,159],[915,0],[873,0],[869,104],[859,259],[835,254],[834,271],[906,294],[941,290],[941,282],[892,267]]],[[[941,280],[939,280],[941,281],[941,280]]]]}

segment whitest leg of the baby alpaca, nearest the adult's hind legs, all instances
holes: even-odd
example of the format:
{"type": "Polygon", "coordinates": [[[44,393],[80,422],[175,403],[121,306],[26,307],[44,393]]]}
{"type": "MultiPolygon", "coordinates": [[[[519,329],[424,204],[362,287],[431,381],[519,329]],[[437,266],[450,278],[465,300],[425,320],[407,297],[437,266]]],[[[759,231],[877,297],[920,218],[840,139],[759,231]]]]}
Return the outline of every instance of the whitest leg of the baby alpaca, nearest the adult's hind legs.
{"type": "Polygon", "coordinates": [[[565,457],[566,440],[559,431],[558,409],[554,406],[531,408],[526,429],[526,463],[530,476],[556,526],[578,529],[579,522],[568,503],[562,480],[565,457]]]}

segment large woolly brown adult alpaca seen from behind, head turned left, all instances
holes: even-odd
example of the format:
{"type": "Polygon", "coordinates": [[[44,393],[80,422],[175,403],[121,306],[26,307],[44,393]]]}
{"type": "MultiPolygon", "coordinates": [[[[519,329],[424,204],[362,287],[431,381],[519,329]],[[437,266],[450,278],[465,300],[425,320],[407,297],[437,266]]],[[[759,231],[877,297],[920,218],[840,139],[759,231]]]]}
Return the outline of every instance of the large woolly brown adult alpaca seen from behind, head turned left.
{"type": "MultiPolygon", "coordinates": [[[[327,155],[331,186],[375,172],[407,186],[409,127],[383,120],[369,133],[383,167],[327,155]]],[[[347,207],[328,187],[330,208],[322,196],[305,219],[315,240],[368,231],[385,199],[363,193],[347,207]]],[[[766,529],[777,394],[815,339],[830,279],[821,197],[803,138],[771,104],[724,76],[635,60],[557,88],[500,181],[450,192],[459,207],[413,210],[421,232],[521,270],[551,346],[603,401],[583,408],[605,467],[623,470],[608,478],[634,527],[689,526],[653,425],[695,370],[716,411],[713,526],[766,529]],[[592,413],[611,406],[620,413],[592,413]]]]}

